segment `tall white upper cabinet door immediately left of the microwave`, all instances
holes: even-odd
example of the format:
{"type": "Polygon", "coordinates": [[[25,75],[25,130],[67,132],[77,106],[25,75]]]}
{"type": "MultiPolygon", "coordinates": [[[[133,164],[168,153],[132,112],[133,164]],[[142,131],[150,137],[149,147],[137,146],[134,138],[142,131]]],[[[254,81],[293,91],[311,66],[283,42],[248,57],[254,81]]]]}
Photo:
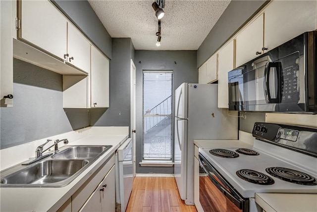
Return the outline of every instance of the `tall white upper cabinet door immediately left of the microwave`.
{"type": "Polygon", "coordinates": [[[228,71],[234,69],[234,41],[218,53],[218,108],[229,108],[228,71]]]}

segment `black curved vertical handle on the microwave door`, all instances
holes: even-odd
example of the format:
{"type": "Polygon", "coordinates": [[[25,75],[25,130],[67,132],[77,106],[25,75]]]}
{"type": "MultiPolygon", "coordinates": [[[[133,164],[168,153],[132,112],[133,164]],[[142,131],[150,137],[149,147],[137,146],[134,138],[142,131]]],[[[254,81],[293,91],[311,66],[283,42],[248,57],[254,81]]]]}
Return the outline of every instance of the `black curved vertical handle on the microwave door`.
{"type": "Polygon", "coordinates": [[[282,65],[281,62],[269,62],[266,63],[265,65],[265,70],[264,70],[264,92],[265,92],[265,101],[266,103],[279,103],[279,75],[280,75],[280,69],[282,65]],[[276,70],[276,76],[277,76],[277,95],[276,98],[271,98],[271,93],[269,90],[269,74],[271,68],[275,68],[276,70]]]}

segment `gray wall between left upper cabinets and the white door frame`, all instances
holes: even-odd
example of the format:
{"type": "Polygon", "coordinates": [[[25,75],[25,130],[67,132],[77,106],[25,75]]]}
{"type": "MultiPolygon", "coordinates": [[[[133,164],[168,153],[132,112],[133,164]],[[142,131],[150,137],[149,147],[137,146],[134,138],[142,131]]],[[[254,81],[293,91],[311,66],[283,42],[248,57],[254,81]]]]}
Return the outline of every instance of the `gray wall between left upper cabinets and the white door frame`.
{"type": "MultiPolygon", "coordinates": [[[[130,38],[112,39],[109,63],[109,108],[91,110],[92,126],[130,126],[130,63],[134,58],[130,38]]],[[[130,131],[129,131],[130,132],[130,131]]]]}

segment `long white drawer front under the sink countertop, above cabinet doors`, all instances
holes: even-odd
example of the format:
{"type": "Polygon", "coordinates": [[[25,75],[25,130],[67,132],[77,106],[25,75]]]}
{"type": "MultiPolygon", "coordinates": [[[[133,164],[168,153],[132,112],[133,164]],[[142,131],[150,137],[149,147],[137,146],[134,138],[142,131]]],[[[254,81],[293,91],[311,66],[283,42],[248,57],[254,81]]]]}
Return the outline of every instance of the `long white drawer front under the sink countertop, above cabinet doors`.
{"type": "Polygon", "coordinates": [[[78,212],[114,165],[114,155],[104,163],[72,196],[72,212],[78,212]]]}

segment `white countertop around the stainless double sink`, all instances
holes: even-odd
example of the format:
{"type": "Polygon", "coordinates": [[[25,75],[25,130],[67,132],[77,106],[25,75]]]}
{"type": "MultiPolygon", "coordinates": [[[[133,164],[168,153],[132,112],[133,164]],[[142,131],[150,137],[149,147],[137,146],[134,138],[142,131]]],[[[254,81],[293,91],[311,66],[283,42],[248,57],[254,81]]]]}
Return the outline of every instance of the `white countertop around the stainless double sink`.
{"type": "Polygon", "coordinates": [[[70,184],[58,188],[0,188],[0,211],[57,211],[111,155],[128,135],[89,135],[68,145],[112,145],[70,184]]]}

